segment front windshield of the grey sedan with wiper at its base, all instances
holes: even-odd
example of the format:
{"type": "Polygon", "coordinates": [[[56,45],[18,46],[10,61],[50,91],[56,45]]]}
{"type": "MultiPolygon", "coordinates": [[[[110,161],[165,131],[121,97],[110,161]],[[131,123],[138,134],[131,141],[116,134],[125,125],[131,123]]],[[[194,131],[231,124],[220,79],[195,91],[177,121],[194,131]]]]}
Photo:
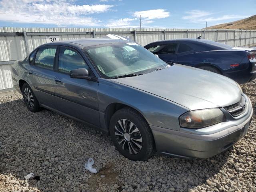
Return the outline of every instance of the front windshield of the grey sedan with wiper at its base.
{"type": "Polygon", "coordinates": [[[146,74],[168,64],[154,54],[133,43],[111,43],[83,49],[103,78],[125,74],[146,74]]]}

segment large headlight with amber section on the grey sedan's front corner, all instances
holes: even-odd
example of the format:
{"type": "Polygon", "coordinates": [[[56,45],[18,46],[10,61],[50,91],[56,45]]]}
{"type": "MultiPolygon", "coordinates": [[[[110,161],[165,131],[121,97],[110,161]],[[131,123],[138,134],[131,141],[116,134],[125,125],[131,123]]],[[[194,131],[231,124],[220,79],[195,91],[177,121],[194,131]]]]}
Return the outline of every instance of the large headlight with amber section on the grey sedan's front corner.
{"type": "Polygon", "coordinates": [[[226,118],[219,108],[195,110],[180,116],[180,126],[186,128],[203,128],[225,121],[226,118]]]}

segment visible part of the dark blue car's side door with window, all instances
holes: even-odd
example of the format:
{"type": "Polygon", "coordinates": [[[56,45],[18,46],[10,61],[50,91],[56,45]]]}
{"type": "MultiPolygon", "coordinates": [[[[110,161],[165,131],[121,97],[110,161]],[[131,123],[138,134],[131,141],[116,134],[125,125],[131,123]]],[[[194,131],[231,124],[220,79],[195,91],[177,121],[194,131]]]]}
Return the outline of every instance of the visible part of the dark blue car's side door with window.
{"type": "Polygon", "coordinates": [[[177,61],[177,44],[154,44],[147,48],[150,52],[158,55],[158,57],[165,62],[177,61]]]}

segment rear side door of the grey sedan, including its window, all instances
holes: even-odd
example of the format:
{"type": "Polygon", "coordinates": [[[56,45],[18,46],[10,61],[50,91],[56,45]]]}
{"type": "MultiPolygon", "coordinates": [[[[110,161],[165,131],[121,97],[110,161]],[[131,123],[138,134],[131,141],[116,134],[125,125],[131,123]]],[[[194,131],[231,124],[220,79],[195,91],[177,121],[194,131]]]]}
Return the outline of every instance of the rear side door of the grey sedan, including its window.
{"type": "Polygon", "coordinates": [[[28,71],[31,86],[40,104],[56,108],[54,101],[54,61],[57,46],[41,46],[35,56],[31,55],[28,71]],[[33,58],[32,58],[33,56],[33,58]]]}

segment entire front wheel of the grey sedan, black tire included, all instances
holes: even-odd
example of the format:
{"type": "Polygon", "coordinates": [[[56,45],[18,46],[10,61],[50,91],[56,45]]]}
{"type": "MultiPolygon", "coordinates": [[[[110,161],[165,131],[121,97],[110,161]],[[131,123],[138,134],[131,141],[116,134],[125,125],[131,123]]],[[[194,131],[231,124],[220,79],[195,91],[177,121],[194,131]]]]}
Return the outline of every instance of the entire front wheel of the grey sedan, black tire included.
{"type": "Polygon", "coordinates": [[[110,136],[118,151],[130,160],[144,161],[155,152],[154,137],[148,123],[131,108],[114,113],[110,120],[110,136]]]}

